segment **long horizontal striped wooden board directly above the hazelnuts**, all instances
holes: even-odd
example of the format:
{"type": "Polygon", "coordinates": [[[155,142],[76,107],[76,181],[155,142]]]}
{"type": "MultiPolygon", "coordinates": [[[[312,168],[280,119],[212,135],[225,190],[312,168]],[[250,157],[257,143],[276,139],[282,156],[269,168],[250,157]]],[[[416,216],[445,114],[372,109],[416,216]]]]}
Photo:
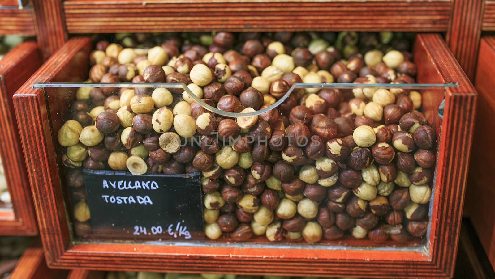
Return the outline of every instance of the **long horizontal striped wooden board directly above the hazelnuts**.
{"type": "Polygon", "coordinates": [[[450,0],[67,0],[68,33],[446,31],[450,0]],[[91,18],[91,20],[88,20],[91,18]]]}

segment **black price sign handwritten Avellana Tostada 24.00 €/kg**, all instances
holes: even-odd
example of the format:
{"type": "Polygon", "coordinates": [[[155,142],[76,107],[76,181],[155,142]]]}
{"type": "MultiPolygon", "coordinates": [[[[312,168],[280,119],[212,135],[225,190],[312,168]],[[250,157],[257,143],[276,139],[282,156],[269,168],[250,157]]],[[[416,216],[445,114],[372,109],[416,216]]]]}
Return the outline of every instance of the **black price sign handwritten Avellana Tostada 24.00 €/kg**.
{"type": "Polygon", "coordinates": [[[85,169],[83,176],[93,233],[143,239],[203,235],[198,173],[134,176],[85,169]]]}

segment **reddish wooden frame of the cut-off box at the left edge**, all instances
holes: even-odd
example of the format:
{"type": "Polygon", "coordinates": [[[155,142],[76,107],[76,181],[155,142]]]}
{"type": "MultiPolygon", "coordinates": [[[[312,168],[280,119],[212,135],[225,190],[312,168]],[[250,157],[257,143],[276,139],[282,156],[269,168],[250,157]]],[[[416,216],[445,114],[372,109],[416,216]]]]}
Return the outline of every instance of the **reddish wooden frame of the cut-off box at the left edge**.
{"type": "Polygon", "coordinates": [[[26,41],[0,60],[0,154],[12,199],[13,212],[0,213],[0,234],[38,233],[31,188],[22,154],[12,95],[41,65],[38,47],[26,41]]]}

